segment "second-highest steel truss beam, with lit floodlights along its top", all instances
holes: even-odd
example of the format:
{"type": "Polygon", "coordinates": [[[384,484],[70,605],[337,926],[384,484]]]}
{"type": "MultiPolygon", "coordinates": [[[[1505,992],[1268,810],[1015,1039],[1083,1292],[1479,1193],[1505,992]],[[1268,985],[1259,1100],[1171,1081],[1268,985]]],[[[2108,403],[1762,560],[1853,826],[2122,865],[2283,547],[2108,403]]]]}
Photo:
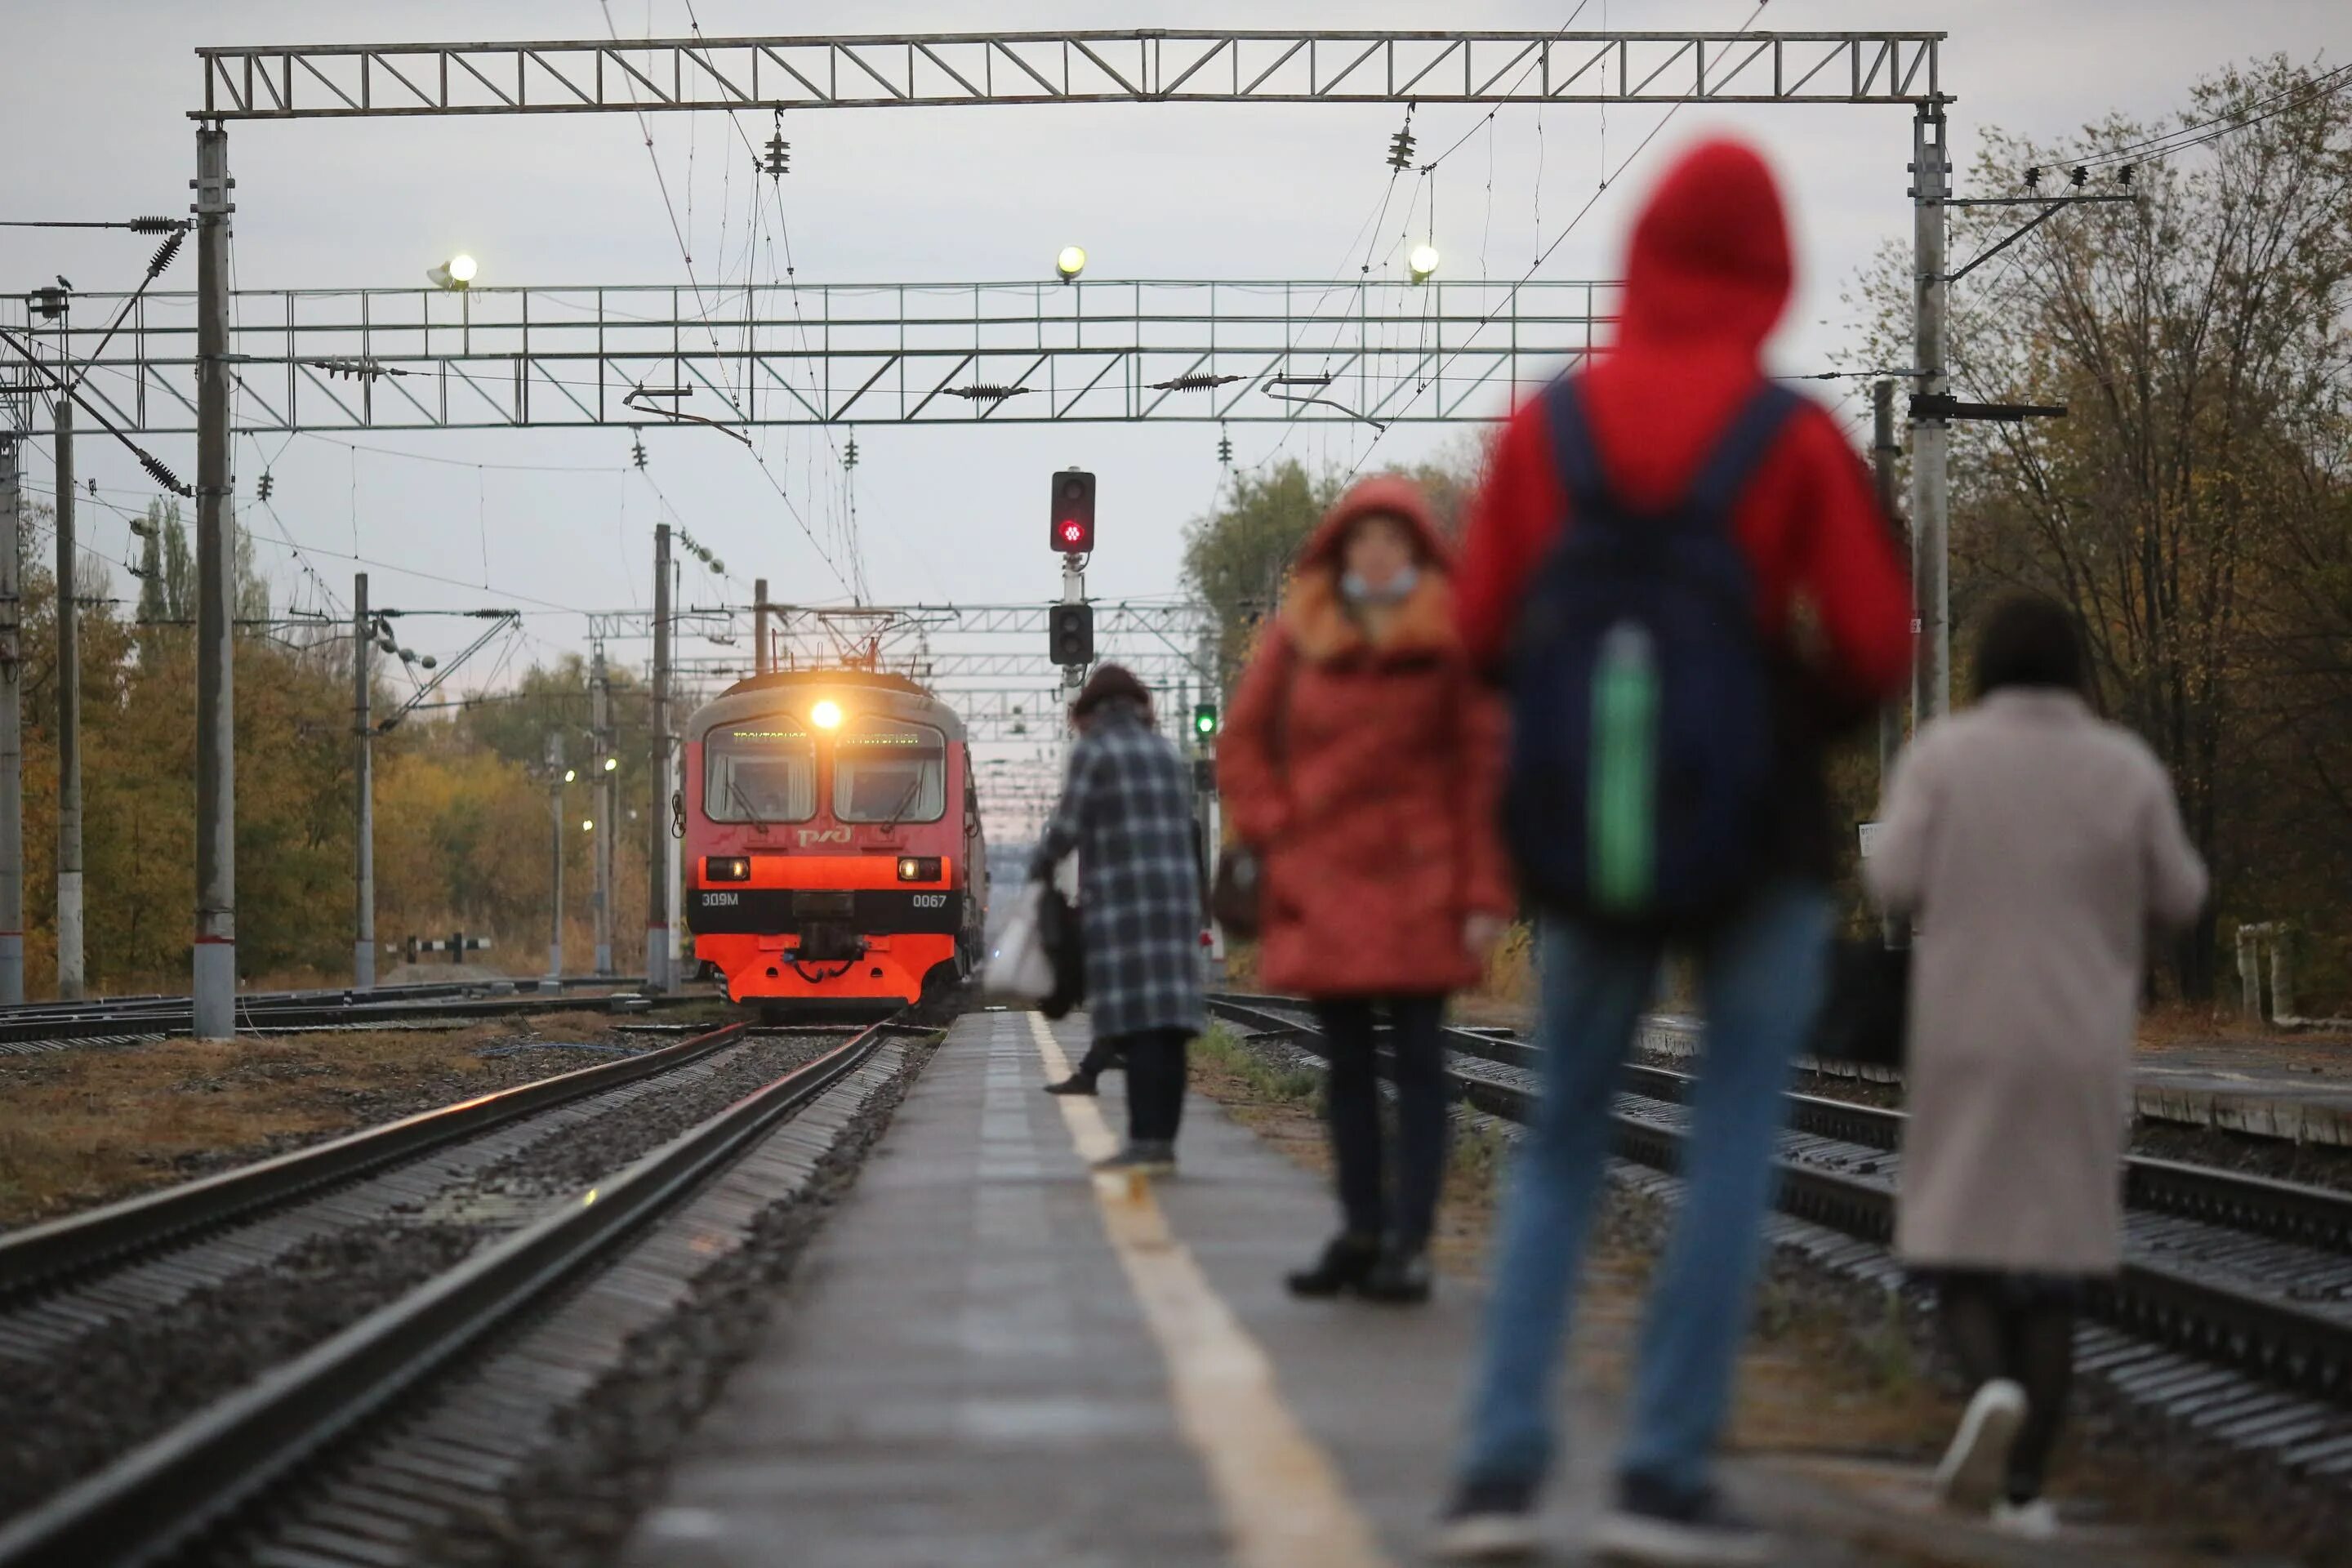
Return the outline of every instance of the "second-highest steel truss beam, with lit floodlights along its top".
{"type": "MultiPolygon", "coordinates": [[[[1616,320],[1613,282],[252,289],[235,428],[461,430],[1498,418],[1616,320]]],[[[195,296],[85,294],[66,336],[134,433],[195,430],[195,296]],[[87,324],[85,324],[87,322],[87,324]]],[[[0,322],[31,331],[26,299],[0,322]]],[[[45,341],[56,331],[45,329],[45,341]]],[[[9,367],[7,381],[26,371],[9,367]]],[[[5,386],[0,386],[5,390],[5,386]]]]}

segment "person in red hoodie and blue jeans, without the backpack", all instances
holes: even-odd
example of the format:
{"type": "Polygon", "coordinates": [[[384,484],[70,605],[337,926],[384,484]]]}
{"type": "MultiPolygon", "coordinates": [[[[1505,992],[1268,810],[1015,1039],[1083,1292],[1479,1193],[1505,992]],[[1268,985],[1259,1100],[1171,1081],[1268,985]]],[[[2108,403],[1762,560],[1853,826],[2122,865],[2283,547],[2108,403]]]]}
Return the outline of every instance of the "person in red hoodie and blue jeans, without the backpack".
{"type": "MultiPolygon", "coordinates": [[[[1773,691],[1769,788],[1750,818],[1759,842],[1743,844],[1757,867],[1748,891],[1686,933],[1708,1023],[1686,1192],[1651,1291],[1616,1502],[1597,1530],[1604,1554],[1646,1563],[1769,1559],[1771,1542],[1717,1495],[1712,1453],[1762,1248],[1780,1091],[1823,990],[1835,846],[1823,748],[1900,691],[1912,651],[1907,574],[1860,461],[1820,407],[1792,395],[1773,407],[1766,393],[1759,353],[1788,292],[1771,172],[1740,143],[1696,146],[1635,223],[1616,343],[1519,407],[1496,440],[1456,574],[1463,644],[1510,686],[1529,585],[1559,581],[1545,567],[1578,527],[1571,477],[1576,494],[1611,508],[1611,527],[1630,527],[1621,520],[1670,515],[1684,498],[1679,517],[1691,520],[1708,505],[1698,491],[1738,475],[1708,515],[1729,529],[1729,559],[1745,559],[1752,588],[1750,642],[1773,691]],[[1581,407],[1581,428],[1562,400],[1581,407]],[[1571,435],[1555,440],[1562,430],[1571,435]],[[1748,461],[1726,463],[1755,430],[1769,435],[1748,461]]],[[[1618,578],[1571,581],[1585,595],[1625,592],[1618,578]]],[[[1468,1434],[1439,1521],[1437,1544],[1454,1559],[1536,1547],[1534,1500],[1552,1462],[1552,1387],[1609,1157],[1611,1091],[1665,940],[1545,912],[1545,1086],[1501,1213],[1468,1434]]]]}

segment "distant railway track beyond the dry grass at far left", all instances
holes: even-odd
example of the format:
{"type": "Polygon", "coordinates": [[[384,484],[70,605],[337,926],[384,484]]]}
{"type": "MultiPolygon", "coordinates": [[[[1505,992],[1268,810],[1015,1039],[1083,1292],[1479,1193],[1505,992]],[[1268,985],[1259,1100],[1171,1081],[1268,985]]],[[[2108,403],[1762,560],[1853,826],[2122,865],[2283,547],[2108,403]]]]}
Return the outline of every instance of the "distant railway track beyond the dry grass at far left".
{"type": "MultiPolygon", "coordinates": [[[[626,978],[379,985],[376,990],[252,992],[238,997],[240,1030],[402,1027],[452,1018],[510,1018],[579,1009],[644,1009],[656,999],[619,987],[626,978]],[[593,994],[612,987],[609,994],[593,994]],[[583,994],[590,992],[590,994],[583,994]]],[[[663,997],[661,1001],[680,1001],[663,997]]],[[[186,997],[24,1001],[0,1009],[0,1056],[68,1046],[136,1044],[188,1034],[186,997]]]]}

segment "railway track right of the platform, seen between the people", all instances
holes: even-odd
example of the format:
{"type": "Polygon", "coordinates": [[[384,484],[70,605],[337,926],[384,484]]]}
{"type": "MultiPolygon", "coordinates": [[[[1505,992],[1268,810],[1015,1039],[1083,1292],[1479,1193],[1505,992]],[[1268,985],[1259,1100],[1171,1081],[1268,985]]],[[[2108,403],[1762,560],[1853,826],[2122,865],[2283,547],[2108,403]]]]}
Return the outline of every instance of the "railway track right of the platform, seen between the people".
{"type": "MultiPolygon", "coordinates": [[[[1211,1011],[1319,1053],[1301,1001],[1221,994],[1211,1011]]],[[[1477,1030],[1446,1030],[1446,1046],[1465,1103],[1515,1124],[1534,1114],[1534,1046],[1477,1030]]],[[[1693,1084],[1630,1063],[1616,1152],[1672,1171],[1693,1084]]],[[[1780,1213],[1867,1244],[1867,1258],[1846,1244],[1839,1265],[1896,1279],[1884,1246],[1903,1112],[1802,1093],[1788,1103],[1780,1213]]],[[[2352,1474],[2352,1194],[2131,1157],[2126,1206],[2124,1269],[2091,1293],[2084,1371],[2296,1474],[2352,1474]]]]}

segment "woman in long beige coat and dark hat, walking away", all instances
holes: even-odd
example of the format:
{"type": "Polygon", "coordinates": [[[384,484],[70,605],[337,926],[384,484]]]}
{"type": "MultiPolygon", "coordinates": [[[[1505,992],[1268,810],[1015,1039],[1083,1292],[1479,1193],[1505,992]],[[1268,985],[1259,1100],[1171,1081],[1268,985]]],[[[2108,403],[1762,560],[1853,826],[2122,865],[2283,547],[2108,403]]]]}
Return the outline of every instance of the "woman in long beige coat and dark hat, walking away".
{"type": "Polygon", "coordinates": [[[2187,926],[2206,872],[2164,766],[2084,701],[2063,607],[1994,607],[1976,682],[1898,762],[1863,872],[1919,922],[1896,1251],[1938,1279],[1976,1387],[1938,1486],[2042,1535],[2074,1300],[2124,1253],[2147,940],[2187,926]]]}

